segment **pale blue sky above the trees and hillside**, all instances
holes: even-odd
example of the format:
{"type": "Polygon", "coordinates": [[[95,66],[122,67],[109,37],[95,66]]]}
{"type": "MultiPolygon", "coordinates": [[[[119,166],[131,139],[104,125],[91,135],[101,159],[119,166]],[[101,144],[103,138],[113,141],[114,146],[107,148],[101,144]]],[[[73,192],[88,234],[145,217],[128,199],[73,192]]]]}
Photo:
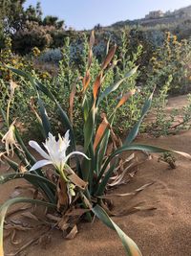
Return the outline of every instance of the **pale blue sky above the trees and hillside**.
{"type": "MultiPolygon", "coordinates": [[[[27,0],[25,7],[37,0],[27,0]]],[[[55,15],[75,30],[92,29],[96,24],[142,18],[150,11],[174,11],[191,5],[191,0],[41,0],[44,15],[55,15]]]]}

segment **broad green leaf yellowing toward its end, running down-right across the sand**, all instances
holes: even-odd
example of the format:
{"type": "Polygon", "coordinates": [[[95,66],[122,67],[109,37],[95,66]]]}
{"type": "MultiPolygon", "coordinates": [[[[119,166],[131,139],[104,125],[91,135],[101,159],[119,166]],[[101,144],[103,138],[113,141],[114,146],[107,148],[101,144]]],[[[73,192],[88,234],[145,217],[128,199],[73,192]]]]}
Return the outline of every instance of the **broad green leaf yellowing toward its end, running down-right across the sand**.
{"type": "Polygon", "coordinates": [[[129,238],[118,226],[117,224],[112,221],[112,219],[109,218],[107,213],[101,208],[99,205],[96,205],[92,211],[96,215],[96,217],[102,221],[105,225],[110,227],[111,229],[115,230],[117,232],[117,235],[119,236],[126,255],[127,256],[141,256],[141,252],[138,248],[138,245],[131,239],[129,238]]]}

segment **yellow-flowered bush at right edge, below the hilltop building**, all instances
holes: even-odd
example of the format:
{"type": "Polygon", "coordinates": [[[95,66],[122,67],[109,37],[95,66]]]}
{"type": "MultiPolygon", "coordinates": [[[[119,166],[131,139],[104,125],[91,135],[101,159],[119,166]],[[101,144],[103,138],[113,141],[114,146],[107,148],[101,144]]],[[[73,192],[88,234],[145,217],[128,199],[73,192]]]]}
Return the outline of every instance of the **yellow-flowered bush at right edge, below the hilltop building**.
{"type": "Polygon", "coordinates": [[[190,40],[178,41],[176,35],[166,33],[163,45],[156,50],[148,66],[147,83],[161,87],[169,81],[168,94],[184,94],[190,91],[190,40]]]}

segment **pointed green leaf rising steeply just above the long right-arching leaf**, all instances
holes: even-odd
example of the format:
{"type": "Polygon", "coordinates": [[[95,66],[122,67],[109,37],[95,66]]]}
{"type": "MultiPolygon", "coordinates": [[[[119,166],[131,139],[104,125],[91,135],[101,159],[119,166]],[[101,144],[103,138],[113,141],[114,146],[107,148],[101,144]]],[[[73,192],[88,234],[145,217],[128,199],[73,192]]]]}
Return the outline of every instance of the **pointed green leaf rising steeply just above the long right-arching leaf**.
{"type": "Polygon", "coordinates": [[[146,102],[144,103],[138,123],[130,130],[130,132],[124,142],[124,145],[130,145],[137,137],[138,129],[142,123],[142,120],[143,120],[144,116],[146,115],[147,111],[149,110],[149,108],[151,107],[153,94],[154,94],[154,91],[150,95],[149,99],[147,99],[146,102]]]}

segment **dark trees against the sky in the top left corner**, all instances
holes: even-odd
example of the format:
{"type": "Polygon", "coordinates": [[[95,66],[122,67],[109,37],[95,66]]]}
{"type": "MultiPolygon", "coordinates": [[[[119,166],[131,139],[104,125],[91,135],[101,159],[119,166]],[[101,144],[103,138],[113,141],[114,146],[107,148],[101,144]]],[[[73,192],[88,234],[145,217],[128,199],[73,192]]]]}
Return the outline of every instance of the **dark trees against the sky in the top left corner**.
{"type": "Polygon", "coordinates": [[[48,15],[42,17],[40,2],[26,10],[26,0],[0,0],[0,48],[6,35],[12,38],[13,50],[27,54],[32,47],[60,47],[64,44],[64,20],[48,15]]]}

